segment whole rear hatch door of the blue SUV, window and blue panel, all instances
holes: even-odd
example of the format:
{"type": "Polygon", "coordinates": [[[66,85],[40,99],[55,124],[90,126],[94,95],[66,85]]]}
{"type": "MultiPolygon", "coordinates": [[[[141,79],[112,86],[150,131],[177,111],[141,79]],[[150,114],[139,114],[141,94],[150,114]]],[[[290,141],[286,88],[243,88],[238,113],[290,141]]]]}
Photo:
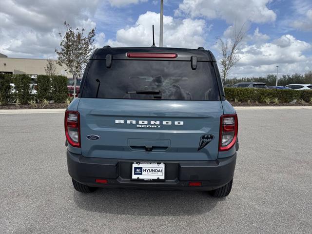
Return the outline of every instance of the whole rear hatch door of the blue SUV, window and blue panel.
{"type": "Polygon", "coordinates": [[[82,155],[215,160],[223,109],[214,74],[204,61],[91,60],[78,105],[82,155]]]}

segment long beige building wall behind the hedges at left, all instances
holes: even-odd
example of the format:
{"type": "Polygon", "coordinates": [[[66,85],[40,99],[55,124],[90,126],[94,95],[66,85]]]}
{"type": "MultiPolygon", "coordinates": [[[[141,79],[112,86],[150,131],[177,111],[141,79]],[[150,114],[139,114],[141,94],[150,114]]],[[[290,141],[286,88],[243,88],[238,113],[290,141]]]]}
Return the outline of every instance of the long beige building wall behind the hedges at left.
{"type": "MultiPolygon", "coordinates": [[[[44,67],[46,65],[47,59],[8,58],[6,55],[0,54],[0,73],[45,75],[44,67]]],[[[73,78],[70,73],[67,73],[58,64],[56,64],[56,68],[56,75],[73,78]]]]}

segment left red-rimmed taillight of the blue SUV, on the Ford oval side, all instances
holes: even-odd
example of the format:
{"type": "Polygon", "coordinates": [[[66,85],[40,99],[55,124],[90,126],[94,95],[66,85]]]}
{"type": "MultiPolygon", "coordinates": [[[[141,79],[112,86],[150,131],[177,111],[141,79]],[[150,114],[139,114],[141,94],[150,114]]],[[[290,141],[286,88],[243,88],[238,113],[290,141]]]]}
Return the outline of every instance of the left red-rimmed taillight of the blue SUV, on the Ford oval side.
{"type": "Polygon", "coordinates": [[[65,112],[65,136],[73,147],[80,147],[80,119],[78,111],[65,112]]]}

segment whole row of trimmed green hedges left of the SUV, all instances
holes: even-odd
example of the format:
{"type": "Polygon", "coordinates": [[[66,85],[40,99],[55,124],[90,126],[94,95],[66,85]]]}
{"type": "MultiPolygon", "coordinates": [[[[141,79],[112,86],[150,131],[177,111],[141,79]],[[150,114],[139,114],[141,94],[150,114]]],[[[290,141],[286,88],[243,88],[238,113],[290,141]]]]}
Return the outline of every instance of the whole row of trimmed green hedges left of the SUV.
{"type": "Polygon", "coordinates": [[[63,102],[68,96],[67,78],[39,75],[36,79],[37,95],[32,94],[31,78],[26,74],[0,74],[0,105],[17,102],[27,104],[34,97],[63,102]],[[14,88],[10,85],[14,84],[14,88]]]}

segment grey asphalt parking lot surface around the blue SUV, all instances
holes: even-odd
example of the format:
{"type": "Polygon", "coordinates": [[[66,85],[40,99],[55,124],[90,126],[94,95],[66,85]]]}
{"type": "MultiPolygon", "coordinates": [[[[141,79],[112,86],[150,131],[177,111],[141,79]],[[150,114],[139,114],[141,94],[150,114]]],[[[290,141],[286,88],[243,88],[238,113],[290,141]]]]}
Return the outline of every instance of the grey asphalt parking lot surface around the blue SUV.
{"type": "Polygon", "coordinates": [[[312,109],[239,110],[231,194],[100,189],[67,173],[63,114],[0,115],[0,233],[312,233],[312,109]]]}

